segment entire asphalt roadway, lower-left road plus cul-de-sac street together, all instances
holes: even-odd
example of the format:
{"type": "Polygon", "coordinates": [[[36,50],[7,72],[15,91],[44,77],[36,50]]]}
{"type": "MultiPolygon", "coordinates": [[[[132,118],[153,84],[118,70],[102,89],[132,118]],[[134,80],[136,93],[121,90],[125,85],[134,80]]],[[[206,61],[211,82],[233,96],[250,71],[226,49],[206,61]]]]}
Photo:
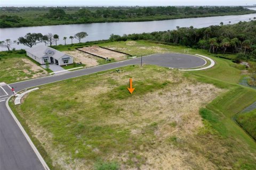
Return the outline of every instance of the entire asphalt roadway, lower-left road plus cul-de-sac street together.
{"type": "MultiPolygon", "coordinates": [[[[134,58],[131,60],[72,71],[65,74],[57,74],[49,77],[12,83],[10,86],[14,87],[16,91],[19,91],[54,81],[70,79],[126,65],[140,64],[140,62],[141,58],[134,58]]],[[[142,63],[172,68],[191,68],[202,66],[205,64],[205,61],[202,58],[186,54],[155,54],[142,57],[142,63]]],[[[0,88],[0,169],[44,169],[35,152],[30,147],[25,136],[22,134],[17,123],[15,123],[13,117],[5,106],[6,97],[9,97],[11,94],[12,91],[8,86],[2,86],[0,88]]]]}

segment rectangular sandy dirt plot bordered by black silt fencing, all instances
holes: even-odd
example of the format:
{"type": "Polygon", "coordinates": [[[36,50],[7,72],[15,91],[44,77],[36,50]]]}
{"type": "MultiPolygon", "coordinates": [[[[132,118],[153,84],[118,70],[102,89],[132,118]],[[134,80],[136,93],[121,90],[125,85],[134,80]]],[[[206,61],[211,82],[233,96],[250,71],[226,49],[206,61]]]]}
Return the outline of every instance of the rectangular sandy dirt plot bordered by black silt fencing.
{"type": "Polygon", "coordinates": [[[80,50],[83,50],[84,52],[88,52],[94,55],[101,56],[103,58],[114,58],[116,61],[124,60],[126,58],[125,54],[113,52],[111,50],[100,48],[99,46],[90,46],[90,47],[83,47],[79,48],[80,50]]]}

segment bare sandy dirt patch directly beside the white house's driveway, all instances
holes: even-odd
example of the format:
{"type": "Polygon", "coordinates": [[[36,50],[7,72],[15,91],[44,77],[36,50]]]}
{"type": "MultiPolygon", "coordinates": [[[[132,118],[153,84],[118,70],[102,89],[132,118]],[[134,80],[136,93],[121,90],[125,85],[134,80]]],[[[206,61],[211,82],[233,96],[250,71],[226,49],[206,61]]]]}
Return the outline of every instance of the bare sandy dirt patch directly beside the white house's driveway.
{"type": "Polygon", "coordinates": [[[66,51],[64,53],[73,56],[74,61],[76,63],[81,62],[81,63],[85,64],[85,67],[91,67],[91,66],[95,66],[95,65],[99,64],[97,62],[97,60],[99,59],[98,57],[95,57],[95,56],[87,54],[87,53],[80,52],[78,50],[66,51]]]}

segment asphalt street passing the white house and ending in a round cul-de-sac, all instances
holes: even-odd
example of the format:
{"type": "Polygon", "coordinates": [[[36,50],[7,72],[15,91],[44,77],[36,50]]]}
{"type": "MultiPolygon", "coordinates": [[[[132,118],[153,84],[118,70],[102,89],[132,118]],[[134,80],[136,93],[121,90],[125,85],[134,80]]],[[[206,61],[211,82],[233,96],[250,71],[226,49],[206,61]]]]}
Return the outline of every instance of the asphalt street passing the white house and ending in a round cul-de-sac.
{"type": "MultiPolygon", "coordinates": [[[[29,81],[12,83],[10,84],[10,86],[14,87],[16,91],[19,91],[25,88],[39,86],[45,83],[70,79],[70,78],[79,77],[86,74],[92,74],[95,72],[100,72],[100,71],[115,69],[117,67],[140,64],[140,63],[141,63],[141,58],[134,58],[131,60],[125,60],[125,61],[111,63],[111,64],[94,66],[87,69],[71,71],[61,75],[53,75],[50,77],[44,77],[40,79],[32,79],[29,81]]],[[[142,63],[184,69],[184,68],[202,66],[206,63],[206,61],[203,60],[202,58],[199,58],[193,55],[167,53],[167,54],[155,54],[155,55],[142,57],[142,63]]]]}

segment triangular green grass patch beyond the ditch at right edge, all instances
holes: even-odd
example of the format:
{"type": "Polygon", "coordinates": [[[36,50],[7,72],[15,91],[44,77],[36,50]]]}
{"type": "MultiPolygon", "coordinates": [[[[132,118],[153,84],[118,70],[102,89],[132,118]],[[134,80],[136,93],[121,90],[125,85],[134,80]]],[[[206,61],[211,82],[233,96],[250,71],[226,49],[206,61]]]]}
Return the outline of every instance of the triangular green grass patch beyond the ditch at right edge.
{"type": "Polygon", "coordinates": [[[256,111],[241,113],[236,116],[236,121],[239,125],[256,140],[256,111]]]}

